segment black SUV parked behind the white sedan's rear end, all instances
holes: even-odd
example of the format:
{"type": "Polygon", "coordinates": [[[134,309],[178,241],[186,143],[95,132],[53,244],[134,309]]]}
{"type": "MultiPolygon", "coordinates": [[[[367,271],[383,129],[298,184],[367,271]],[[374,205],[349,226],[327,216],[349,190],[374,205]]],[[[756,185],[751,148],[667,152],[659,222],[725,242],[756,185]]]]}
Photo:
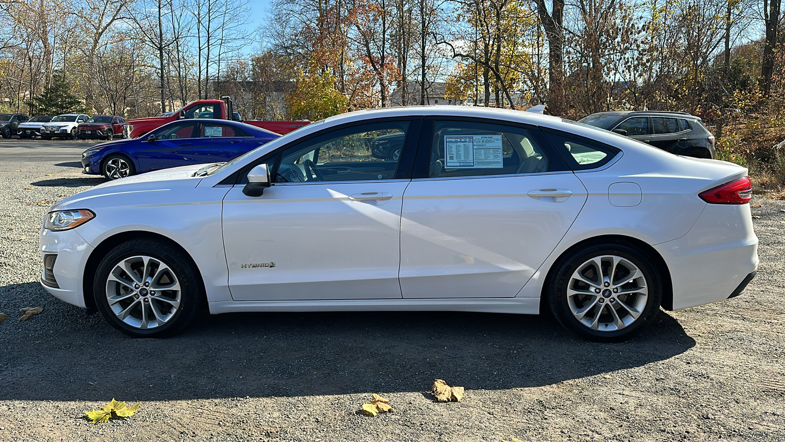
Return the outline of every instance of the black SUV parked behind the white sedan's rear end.
{"type": "Polygon", "coordinates": [[[579,123],[623,134],[677,155],[714,158],[714,135],[686,112],[597,112],[579,123]]]}

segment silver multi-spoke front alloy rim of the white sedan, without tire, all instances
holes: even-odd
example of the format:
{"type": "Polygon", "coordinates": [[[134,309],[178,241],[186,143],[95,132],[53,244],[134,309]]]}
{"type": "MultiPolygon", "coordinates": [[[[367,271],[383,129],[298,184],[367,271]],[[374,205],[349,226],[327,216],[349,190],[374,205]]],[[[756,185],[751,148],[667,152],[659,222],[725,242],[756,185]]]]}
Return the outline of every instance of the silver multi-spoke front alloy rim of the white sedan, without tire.
{"type": "Polygon", "coordinates": [[[111,311],[139,330],[169,322],[180,308],[181,293],[171,267],[152,256],[130,256],[115,263],[106,281],[111,311]]]}

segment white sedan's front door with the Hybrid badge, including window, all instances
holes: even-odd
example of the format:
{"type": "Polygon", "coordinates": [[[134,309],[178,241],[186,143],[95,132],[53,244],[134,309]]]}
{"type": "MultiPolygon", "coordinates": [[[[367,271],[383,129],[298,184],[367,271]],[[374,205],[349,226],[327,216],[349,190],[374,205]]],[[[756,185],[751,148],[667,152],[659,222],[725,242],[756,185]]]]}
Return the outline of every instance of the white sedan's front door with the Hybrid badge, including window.
{"type": "Polygon", "coordinates": [[[223,212],[232,298],[400,298],[403,171],[411,168],[372,157],[369,145],[382,134],[416,140],[414,126],[387,120],[317,134],[264,159],[275,178],[261,197],[235,185],[223,212]]]}

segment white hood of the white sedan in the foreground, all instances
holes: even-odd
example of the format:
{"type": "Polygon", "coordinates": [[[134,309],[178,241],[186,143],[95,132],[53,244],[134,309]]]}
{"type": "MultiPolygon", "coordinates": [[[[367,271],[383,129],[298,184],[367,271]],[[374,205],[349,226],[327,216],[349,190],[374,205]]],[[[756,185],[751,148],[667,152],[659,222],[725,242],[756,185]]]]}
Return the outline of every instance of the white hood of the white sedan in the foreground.
{"type": "Polygon", "coordinates": [[[106,195],[117,195],[119,193],[192,189],[202,181],[202,177],[192,175],[203,166],[204,164],[194,164],[181,168],[164,169],[162,171],[148,172],[141,175],[133,175],[128,178],[116,179],[115,181],[104,182],[92,189],[84,190],[71,197],[65,198],[63,201],[55,204],[50,210],[90,208],[90,200],[106,195]]]}

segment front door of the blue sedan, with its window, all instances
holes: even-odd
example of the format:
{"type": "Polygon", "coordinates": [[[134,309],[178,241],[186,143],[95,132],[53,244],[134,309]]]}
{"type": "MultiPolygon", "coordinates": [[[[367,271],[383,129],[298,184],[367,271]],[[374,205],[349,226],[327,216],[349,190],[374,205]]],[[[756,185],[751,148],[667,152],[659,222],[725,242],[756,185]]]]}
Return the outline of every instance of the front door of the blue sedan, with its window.
{"type": "Polygon", "coordinates": [[[197,123],[184,121],[159,127],[139,142],[141,171],[155,171],[193,164],[193,142],[197,123]]]}

